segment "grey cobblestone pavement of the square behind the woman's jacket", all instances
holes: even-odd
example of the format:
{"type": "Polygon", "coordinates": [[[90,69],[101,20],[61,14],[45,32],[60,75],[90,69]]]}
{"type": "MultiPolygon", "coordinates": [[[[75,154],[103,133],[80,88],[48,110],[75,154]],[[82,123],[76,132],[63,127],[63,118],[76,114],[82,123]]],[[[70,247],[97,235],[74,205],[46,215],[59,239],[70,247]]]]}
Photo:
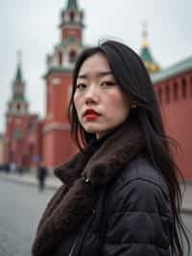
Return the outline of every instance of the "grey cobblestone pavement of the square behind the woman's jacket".
{"type": "MultiPolygon", "coordinates": [[[[0,256],[31,255],[37,222],[53,193],[0,180],[0,256]]],[[[192,232],[192,215],[183,218],[192,232]]]]}

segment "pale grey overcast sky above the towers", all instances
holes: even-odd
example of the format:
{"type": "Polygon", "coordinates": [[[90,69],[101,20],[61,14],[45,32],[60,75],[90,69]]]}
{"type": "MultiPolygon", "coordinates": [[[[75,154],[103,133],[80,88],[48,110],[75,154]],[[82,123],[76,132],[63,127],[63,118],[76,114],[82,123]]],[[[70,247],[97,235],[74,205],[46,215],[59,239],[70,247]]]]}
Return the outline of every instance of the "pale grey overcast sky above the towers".
{"type": "MultiPolygon", "coordinates": [[[[7,101],[17,50],[30,111],[45,114],[46,54],[60,41],[60,10],[67,0],[0,0],[0,132],[5,130],[7,101]]],[[[139,52],[142,21],[149,22],[149,40],[156,61],[166,67],[192,56],[191,0],[79,0],[84,10],[84,44],[119,38],[139,52]]]]}

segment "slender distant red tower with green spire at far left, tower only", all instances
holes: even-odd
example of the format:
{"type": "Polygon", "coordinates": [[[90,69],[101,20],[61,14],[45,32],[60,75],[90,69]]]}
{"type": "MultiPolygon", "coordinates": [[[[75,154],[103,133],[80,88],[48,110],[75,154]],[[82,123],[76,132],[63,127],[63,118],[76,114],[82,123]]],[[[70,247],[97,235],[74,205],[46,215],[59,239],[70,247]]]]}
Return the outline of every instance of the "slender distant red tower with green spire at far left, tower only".
{"type": "Polygon", "coordinates": [[[17,166],[23,166],[25,164],[24,137],[27,133],[29,115],[20,53],[18,54],[18,64],[12,82],[12,98],[8,103],[6,118],[5,160],[7,163],[14,162],[17,166]]]}

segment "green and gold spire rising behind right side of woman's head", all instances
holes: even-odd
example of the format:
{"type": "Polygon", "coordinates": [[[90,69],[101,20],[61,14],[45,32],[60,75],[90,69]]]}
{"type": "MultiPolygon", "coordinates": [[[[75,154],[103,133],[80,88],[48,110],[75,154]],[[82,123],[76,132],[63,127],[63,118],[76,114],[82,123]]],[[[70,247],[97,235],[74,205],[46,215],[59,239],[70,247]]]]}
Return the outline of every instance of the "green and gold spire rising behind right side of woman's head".
{"type": "Polygon", "coordinates": [[[153,55],[152,55],[152,52],[151,52],[151,49],[149,46],[146,22],[143,23],[142,46],[141,46],[140,57],[150,73],[155,73],[160,69],[159,65],[156,64],[156,62],[153,58],[153,55]]]}

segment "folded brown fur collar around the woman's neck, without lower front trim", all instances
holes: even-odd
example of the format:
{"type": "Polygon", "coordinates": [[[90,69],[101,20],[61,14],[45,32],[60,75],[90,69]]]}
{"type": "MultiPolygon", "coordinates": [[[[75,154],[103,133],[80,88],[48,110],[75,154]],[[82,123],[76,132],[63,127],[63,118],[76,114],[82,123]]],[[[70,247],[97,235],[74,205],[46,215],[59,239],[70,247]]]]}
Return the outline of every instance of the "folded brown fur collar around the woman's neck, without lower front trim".
{"type": "Polygon", "coordinates": [[[104,185],[125,166],[143,147],[139,127],[127,121],[121,125],[94,154],[91,146],[80,152],[71,161],[55,170],[55,175],[71,187],[80,177],[88,178],[93,185],[104,185]]]}

